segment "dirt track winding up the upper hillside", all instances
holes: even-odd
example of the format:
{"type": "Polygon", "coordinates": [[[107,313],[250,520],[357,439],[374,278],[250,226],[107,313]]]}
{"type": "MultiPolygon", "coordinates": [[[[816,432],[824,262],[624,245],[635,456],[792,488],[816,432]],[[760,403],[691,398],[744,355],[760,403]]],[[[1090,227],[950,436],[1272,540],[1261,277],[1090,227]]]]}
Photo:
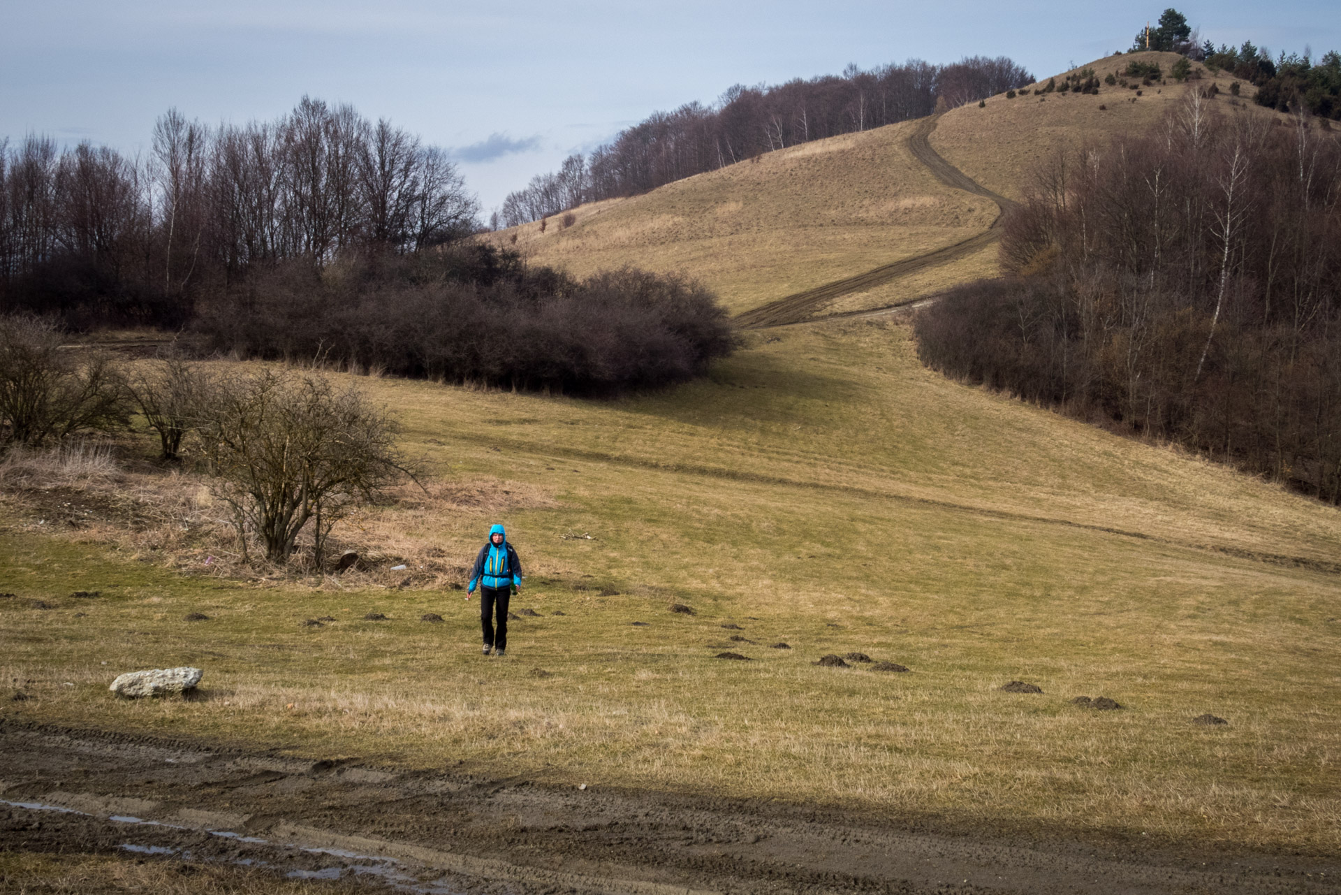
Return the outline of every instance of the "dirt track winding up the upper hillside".
{"type": "MultiPolygon", "coordinates": [[[[912,150],[913,157],[917,158],[917,161],[931,169],[931,173],[935,174],[936,180],[940,182],[947,187],[952,187],[953,189],[963,189],[964,192],[974,193],[975,196],[991,199],[996,203],[1000,213],[996,216],[996,220],[992,221],[992,225],[982,233],[970,236],[968,239],[955,243],[953,246],[937,248],[933,252],[917,255],[916,258],[905,258],[890,264],[882,264],[874,270],[869,270],[854,276],[846,276],[814,288],[807,288],[803,293],[795,293],[794,295],[779,298],[775,302],[768,302],[762,307],[744,311],[736,317],[736,323],[742,329],[768,329],[772,326],[805,323],[815,319],[829,319],[829,317],[817,318],[814,317],[814,313],[841,295],[874,288],[876,286],[882,286],[890,280],[898,279],[900,276],[948,264],[949,262],[971,255],[984,246],[990,246],[1000,239],[1003,216],[1007,208],[1015,203],[1004,196],[994,193],[982,184],[970,178],[964,172],[951,165],[940,156],[940,153],[931,148],[931,131],[936,129],[936,119],[939,117],[940,115],[931,115],[917,122],[917,127],[915,127],[913,133],[908,136],[908,149],[912,150]]],[[[896,307],[898,307],[898,305],[890,305],[884,309],[873,310],[886,313],[896,307]]],[[[869,311],[835,314],[833,317],[860,317],[866,314],[869,314],[869,311]]]]}

